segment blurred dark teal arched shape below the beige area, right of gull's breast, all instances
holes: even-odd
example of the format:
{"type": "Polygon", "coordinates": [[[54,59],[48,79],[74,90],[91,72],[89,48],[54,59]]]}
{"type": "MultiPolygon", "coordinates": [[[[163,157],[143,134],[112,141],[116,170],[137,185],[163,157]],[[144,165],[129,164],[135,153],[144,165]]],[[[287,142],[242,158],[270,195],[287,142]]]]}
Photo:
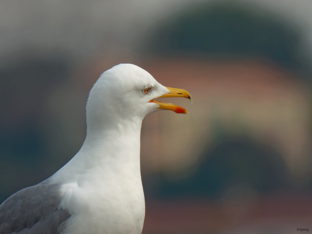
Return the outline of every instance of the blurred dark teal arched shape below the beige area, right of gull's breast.
{"type": "Polygon", "coordinates": [[[223,139],[202,155],[191,173],[154,175],[144,188],[149,197],[215,199],[242,183],[258,193],[273,192],[285,187],[287,176],[282,158],[273,150],[248,139],[223,139]]]}

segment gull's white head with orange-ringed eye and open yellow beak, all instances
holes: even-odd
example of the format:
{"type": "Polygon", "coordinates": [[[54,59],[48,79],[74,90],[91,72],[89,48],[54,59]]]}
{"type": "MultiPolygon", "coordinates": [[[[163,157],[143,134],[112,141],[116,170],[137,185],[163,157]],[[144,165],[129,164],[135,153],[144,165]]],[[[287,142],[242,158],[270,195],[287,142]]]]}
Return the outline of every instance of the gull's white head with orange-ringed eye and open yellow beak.
{"type": "Polygon", "coordinates": [[[142,121],[158,110],[187,113],[183,107],[154,100],[162,97],[185,97],[192,102],[186,90],[165,87],[138,66],[114,66],[103,72],[90,90],[86,106],[88,128],[93,124],[99,127],[120,121],[142,121]]]}

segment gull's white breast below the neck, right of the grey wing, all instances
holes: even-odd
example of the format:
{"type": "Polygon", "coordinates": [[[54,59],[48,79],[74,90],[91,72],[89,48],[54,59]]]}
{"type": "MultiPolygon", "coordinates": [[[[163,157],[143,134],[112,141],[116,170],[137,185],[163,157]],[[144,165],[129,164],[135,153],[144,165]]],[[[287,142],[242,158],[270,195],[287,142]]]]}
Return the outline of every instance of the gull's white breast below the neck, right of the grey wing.
{"type": "Polygon", "coordinates": [[[86,173],[78,183],[63,185],[61,207],[72,216],[62,234],[140,234],[145,216],[141,178],[99,171],[92,170],[96,177],[86,173]]]}

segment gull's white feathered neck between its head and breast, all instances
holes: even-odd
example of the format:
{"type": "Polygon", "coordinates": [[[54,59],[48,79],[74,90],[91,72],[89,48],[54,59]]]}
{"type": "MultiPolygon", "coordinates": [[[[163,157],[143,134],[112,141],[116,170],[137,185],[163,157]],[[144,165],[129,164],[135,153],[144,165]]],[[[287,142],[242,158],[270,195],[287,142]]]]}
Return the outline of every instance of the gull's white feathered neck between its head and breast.
{"type": "MultiPolygon", "coordinates": [[[[52,177],[75,182],[81,173],[112,170],[124,176],[140,175],[141,118],[105,124],[105,129],[87,128],[87,136],[79,152],[52,177]],[[127,174],[128,173],[128,174],[127,174]],[[131,173],[131,175],[130,175],[131,173]]],[[[52,178],[51,178],[52,179],[52,178]]]]}

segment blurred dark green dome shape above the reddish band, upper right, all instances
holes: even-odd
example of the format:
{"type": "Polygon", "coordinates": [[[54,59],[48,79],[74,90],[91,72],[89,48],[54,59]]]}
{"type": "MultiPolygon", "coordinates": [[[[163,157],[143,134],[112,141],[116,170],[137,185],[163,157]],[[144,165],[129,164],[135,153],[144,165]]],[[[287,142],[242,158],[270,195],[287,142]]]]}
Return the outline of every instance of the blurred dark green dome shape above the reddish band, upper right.
{"type": "Polygon", "coordinates": [[[160,54],[266,58],[297,72],[310,72],[298,27],[256,6],[223,2],[190,7],[168,19],[151,38],[149,50],[160,54]]]}

